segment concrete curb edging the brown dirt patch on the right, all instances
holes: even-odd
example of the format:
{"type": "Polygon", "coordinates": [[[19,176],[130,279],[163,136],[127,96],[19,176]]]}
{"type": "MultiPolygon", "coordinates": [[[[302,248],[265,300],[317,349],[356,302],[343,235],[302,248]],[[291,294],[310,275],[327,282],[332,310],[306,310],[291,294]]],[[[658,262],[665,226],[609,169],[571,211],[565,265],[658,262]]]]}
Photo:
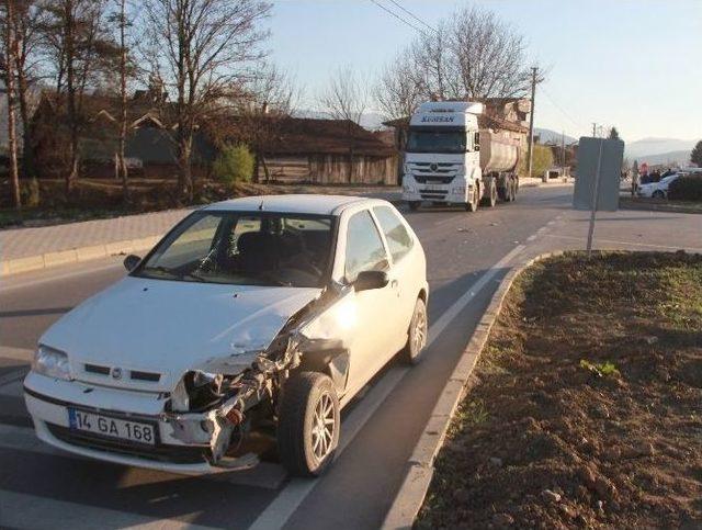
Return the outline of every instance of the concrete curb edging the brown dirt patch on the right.
{"type": "Polygon", "coordinates": [[[502,308],[505,297],[514,279],[533,263],[563,253],[563,250],[545,252],[535,258],[518,262],[512,266],[500,282],[468,345],[463,350],[456,368],[441,391],[429,421],[427,421],[424,430],[419,437],[417,446],[415,446],[408,462],[405,480],[393,500],[389,511],[385,516],[383,529],[412,528],[433,477],[434,459],[443,446],[451,419],[467,393],[468,377],[487,342],[490,329],[492,329],[492,325],[502,308]]]}

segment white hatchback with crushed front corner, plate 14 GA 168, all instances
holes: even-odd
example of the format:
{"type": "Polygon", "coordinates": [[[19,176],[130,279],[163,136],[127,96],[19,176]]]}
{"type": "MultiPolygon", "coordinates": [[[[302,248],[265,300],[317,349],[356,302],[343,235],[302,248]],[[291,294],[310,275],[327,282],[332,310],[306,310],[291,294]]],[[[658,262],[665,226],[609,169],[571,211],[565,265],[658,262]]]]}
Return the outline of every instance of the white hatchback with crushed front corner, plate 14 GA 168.
{"type": "Polygon", "coordinates": [[[387,202],[239,199],[199,210],[39,339],[38,437],[177,473],[333,459],[340,409],[427,339],[424,253],[387,202]]]}

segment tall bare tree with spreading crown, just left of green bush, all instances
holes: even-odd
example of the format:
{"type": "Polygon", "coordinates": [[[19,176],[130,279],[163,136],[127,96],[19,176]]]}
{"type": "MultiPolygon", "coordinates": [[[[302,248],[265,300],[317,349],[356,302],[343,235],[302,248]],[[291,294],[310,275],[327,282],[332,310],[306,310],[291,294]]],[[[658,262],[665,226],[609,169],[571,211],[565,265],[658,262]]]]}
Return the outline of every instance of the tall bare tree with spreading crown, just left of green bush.
{"type": "MultiPolygon", "coordinates": [[[[260,60],[268,32],[260,23],[271,4],[258,0],[151,0],[146,4],[151,76],[162,80],[173,105],[162,114],[173,122],[179,193],[193,199],[191,158],[196,128],[228,104],[246,69],[260,60]]],[[[170,131],[170,129],[169,129],[170,131]]]]}

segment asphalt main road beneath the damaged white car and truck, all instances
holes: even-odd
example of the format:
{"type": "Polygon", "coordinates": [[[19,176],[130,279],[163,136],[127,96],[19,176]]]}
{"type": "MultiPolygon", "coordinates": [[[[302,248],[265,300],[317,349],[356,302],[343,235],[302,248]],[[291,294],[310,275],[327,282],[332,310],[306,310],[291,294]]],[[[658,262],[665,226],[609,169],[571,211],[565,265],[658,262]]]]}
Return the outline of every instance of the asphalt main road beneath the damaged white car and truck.
{"type": "Polygon", "coordinates": [[[516,203],[476,214],[440,207],[406,214],[428,257],[431,343],[421,364],[388,364],[344,410],[341,450],[317,481],[290,480],[275,462],[245,473],[184,477],[78,459],[38,443],[21,397],[23,350],[124,269],[113,258],[2,281],[0,527],[378,527],[505,272],[496,264],[506,266],[505,257],[568,210],[570,193],[568,187],[525,188],[516,203]]]}

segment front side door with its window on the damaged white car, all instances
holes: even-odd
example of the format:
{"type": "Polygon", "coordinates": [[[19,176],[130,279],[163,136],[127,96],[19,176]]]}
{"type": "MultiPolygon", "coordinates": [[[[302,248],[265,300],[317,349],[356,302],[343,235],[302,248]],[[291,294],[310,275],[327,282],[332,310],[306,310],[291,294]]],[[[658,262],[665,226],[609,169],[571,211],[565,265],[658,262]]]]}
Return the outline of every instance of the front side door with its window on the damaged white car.
{"type": "MultiPolygon", "coordinates": [[[[362,271],[390,272],[383,238],[367,208],[354,213],[348,221],[343,270],[347,283],[352,283],[362,271]]],[[[388,282],[382,289],[354,292],[351,296],[354,325],[348,386],[355,393],[394,353],[396,336],[389,323],[397,308],[396,284],[388,282]]]]}

